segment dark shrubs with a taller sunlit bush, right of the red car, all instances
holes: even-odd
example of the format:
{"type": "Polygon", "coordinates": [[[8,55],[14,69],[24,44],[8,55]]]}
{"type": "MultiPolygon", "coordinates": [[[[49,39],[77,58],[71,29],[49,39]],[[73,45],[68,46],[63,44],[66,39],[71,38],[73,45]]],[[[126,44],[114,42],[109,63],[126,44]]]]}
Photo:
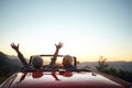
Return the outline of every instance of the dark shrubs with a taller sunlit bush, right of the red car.
{"type": "Polygon", "coordinates": [[[116,77],[119,77],[125,81],[132,82],[132,72],[124,72],[122,69],[117,70],[116,68],[109,67],[106,63],[107,58],[100,57],[98,65],[96,66],[98,72],[106,73],[116,77]]]}

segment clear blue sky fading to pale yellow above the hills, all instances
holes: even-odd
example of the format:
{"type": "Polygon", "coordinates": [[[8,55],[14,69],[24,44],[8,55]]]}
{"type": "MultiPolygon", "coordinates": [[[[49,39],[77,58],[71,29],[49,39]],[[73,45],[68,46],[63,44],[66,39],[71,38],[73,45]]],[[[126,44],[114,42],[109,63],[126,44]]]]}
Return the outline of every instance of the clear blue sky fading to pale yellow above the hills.
{"type": "Polygon", "coordinates": [[[132,61],[132,0],[0,0],[0,52],[132,61]]]}

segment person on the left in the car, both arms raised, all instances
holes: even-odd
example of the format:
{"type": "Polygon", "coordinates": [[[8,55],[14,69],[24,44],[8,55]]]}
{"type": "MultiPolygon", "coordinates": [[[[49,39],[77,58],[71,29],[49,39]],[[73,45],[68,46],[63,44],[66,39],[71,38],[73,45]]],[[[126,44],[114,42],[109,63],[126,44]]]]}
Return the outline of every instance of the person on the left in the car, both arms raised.
{"type": "MultiPolygon", "coordinates": [[[[51,69],[54,66],[57,55],[58,55],[58,51],[63,46],[63,43],[59,42],[58,45],[55,44],[55,46],[56,46],[56,51],[54,53],[54,56],[50,65],[45,69],[51,69]]],[[[18,56],[20,61],[22,62],[22,64],[24,65],[24,67],[26,69],[31,68],[30,65],[26,63],[25,58],[23,57],[22,53],[19,51],[19,44],[15,45],[14,43],[12,43],[11,47],[18,53],[18,56]]],[[[31,63],[32,63],[33,68],[35,69],[41,69],[43,67],[43,59],[40,56],[33,57],[31,63]]]]}

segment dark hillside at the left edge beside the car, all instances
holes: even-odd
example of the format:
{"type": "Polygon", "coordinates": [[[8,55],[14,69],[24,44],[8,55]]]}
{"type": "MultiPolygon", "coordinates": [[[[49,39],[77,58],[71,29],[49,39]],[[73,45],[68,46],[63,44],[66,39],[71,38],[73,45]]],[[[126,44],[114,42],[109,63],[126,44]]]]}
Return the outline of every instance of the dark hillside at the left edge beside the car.
{"type": "Polygon", "coordinates": [[[8,56],[0,52],[0,84],[10,77],[13,73],[19,72],[21,65],[18,66],[16,62],[8,58],[8,56]]]}

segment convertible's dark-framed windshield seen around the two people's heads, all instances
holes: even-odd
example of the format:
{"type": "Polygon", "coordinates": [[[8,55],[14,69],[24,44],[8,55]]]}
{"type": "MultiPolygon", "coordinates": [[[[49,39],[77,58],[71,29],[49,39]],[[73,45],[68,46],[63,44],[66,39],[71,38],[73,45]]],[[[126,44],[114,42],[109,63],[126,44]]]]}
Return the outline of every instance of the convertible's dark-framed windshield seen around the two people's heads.
{"type": "MultiPolygon", "coordinates": [[[[52,62],[52,57],[53,57],[53,55],[32,55],[31,58],[30,58],[30,62],[29,62],[30,68],[23,68],[22,70],[24,70],[24,72],[25,70],[28,70],[28,72],[29,70],[30,72],[31,70],[35,70],[35,72],[36,70],[43,70],[43,72],[45,72],[45,70],[59,70],[59,72],[67,70],[63,66],[63,57],[64,57],[64,55],[58,55],[55,64],[53,65],[53,67],[52,68],[47,68],[50,66],[50,63],[52,62]],[[32,62],[32,58],[34,56],[41,56],[41,58],[43,58],[43,67],[42,68],[35,69],[35,68],[33,68],[32,65],[30,65],[31,62],[32,62]]],[[[69,69],[69,70],[89,70],[89,69],[78,68],[77,67],[77,58],[75,56],[72,56],[72,57],[73,57],[72,66],[75,67],[76,69],[69,69]]]]}

